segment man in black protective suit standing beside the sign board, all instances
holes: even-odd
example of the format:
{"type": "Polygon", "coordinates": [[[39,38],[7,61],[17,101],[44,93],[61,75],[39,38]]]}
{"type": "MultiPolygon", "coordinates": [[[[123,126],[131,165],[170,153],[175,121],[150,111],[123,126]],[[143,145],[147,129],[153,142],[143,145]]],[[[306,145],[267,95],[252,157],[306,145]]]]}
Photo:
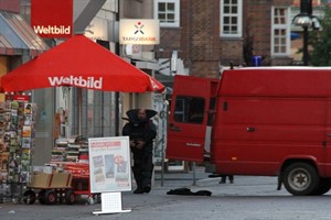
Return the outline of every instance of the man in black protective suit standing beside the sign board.
{"type": "Polygon", "coordinates": [[[150,109],[127,111],[129,122],[122,128],[122,135],[130,138],[134,154],[132,172],[137,183],[134,194],[148,194],[151,190],[153,139],[157,136],[157,128],[150,118],[156,114],[157,112],[150,109]]]}

